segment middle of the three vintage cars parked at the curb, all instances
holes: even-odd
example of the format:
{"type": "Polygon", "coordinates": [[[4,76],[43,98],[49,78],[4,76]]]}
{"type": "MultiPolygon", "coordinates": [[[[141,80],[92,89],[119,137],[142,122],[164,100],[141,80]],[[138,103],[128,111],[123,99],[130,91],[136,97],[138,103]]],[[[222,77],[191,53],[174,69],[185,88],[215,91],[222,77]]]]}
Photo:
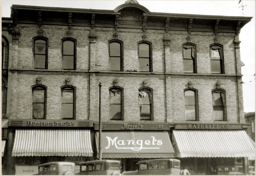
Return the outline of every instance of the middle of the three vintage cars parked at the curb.
{"type": "Polygon", "coordinates": [[[120,161],[117,160],[96,160],[79,164],[80,175],[120,175],[120,161]]]}

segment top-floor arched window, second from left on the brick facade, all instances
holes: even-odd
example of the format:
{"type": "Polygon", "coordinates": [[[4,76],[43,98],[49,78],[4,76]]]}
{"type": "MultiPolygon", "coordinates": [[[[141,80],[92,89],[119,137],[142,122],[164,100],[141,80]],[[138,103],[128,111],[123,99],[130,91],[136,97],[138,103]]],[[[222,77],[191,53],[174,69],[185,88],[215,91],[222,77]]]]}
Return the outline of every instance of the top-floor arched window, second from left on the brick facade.
{"type": "Polygon", "coordinates": [[[64,39],[62,41],[62,69],[76,69],[76,41],[73,39],[64,39]]]}

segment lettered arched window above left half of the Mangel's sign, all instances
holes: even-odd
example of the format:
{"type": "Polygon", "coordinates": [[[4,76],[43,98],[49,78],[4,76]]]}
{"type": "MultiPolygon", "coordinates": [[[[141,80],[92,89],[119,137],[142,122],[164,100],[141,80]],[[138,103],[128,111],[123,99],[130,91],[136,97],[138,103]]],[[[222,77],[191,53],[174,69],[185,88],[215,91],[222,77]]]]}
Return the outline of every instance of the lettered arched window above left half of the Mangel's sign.
{"type": "Polygon", "coordinates": [[[123,120],[123,91],[121,88],[109,89],[110,120],[123,120]]]}

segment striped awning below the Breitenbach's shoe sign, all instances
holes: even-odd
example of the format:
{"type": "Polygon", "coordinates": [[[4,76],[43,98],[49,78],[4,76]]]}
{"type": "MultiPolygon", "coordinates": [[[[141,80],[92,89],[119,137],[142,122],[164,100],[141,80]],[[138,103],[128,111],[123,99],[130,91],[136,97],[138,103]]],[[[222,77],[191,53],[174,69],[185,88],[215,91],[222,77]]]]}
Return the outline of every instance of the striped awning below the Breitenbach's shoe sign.
{"type": "Polygon", "coordinates": [[[12,156],[93,156],[89,130],[16,130],[12,156]]]}

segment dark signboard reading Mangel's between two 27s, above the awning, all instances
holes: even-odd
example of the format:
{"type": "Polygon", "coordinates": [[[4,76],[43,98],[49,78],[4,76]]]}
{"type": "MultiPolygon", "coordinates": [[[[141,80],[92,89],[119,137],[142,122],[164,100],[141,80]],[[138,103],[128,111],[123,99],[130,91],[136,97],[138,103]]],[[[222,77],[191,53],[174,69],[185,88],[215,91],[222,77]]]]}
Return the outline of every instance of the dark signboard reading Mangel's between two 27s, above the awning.
{"type": "MultiPolygon", "coordinates": [[[[169,130],[168,123],[102,123],[102,130],[169,130]]],[[[99,123],[95,123],[94,130],[99,130],[99,123]]]]}

